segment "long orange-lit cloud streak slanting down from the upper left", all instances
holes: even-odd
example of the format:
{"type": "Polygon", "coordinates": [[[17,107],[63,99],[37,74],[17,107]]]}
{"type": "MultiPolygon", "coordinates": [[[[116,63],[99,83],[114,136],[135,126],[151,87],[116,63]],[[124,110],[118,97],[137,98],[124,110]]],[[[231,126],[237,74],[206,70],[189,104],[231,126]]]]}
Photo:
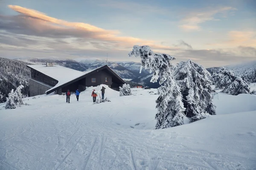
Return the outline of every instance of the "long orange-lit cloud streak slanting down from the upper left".
{"type": "MultiPolygon", "coordinates": [[[[161,49],[172,48],[165,45],[157,45],[154,40],[121,37],[119,36],[119,31],[105,30],[88,23],[59,20],[29,8],[13,5],[9,5],[9,8],[20,13],[14,16],[0,15],[0,30],[9,33],[61,39],[73,37],[91,42],[94,46],[99,42],[108,42],[106,48],[131,48],[134,44],[148,44],[161,49]]],[[[106,45],[106,43],[101,44],[106,45]]]]}

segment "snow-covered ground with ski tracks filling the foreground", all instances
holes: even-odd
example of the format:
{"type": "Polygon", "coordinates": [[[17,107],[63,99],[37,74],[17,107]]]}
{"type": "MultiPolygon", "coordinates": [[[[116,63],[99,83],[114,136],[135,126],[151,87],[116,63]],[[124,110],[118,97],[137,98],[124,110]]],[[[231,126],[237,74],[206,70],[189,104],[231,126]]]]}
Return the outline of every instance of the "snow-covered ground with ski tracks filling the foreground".
{"type": "Polygon", "coordinates": [[[0,105],[0,170],[256,169],[256,95],[216,94],[216,116],[154,130],[156,89],[107,88],[99,104],[92,90],[0,105]]]}

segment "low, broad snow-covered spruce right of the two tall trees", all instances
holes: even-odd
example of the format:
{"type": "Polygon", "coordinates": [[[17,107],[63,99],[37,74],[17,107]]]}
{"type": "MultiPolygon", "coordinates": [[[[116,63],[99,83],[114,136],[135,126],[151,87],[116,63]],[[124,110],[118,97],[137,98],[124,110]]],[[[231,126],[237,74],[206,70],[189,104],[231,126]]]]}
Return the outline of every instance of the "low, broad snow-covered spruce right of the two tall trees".
{"type": "Polygon", "coordinates": [[[241,77],[233,74],[227,68],[220,68],[212,74],[214,84],[223,89],[221,92],[231,95],[250,94],[249,83],[245,82],[241,77]]]}

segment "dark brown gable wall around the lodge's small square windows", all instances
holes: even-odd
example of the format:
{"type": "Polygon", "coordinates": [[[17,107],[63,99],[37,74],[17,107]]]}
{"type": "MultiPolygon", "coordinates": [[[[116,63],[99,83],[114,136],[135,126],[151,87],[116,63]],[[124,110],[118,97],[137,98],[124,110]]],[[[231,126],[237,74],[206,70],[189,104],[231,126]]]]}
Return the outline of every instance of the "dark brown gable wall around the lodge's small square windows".
{"type": "Polygon", "coordinates": [[[108,71],[105,69],[97,72],[96,74],[86,77],[86,86],[87,87],[97,86],[97,85],[101,85],[101,84],[108,85],[109,87],[111,87],[111,84],[112,84],[112,75],[109,74],[108,71]],[[106,77],[108,77],[108,82],[105,82],[106,77]],[[96,82],[92,82],[92,78],[96,78],[96,82]]]}

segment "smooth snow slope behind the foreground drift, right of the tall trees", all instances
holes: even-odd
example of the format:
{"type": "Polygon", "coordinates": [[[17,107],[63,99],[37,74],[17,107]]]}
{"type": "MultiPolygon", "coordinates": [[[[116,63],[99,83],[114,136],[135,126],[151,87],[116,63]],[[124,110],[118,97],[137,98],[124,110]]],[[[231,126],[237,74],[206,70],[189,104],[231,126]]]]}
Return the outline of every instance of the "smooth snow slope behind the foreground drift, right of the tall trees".
{"type": "Polygon", "coordinates": [[[256,111],[256,95],[239,94],[237,96],[218,93],[213,99],[216,114],[230,114],[256,111]]]}

